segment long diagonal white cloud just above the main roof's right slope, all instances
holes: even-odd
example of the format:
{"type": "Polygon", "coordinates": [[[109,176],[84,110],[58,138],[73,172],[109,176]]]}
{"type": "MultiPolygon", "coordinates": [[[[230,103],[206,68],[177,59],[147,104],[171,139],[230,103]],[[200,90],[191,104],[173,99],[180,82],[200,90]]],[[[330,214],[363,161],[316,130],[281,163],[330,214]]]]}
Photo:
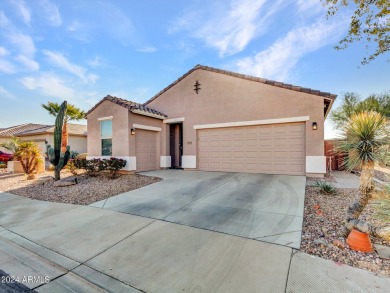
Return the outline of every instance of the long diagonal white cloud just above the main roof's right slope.
{"type": "Polygon", "coordinates": [[[293,29],[268,49],[237,60],[235,68],[239,72],[285,81],[302,57],[339,38],[339,26],[340,23],[319,20],[293,29]]]}

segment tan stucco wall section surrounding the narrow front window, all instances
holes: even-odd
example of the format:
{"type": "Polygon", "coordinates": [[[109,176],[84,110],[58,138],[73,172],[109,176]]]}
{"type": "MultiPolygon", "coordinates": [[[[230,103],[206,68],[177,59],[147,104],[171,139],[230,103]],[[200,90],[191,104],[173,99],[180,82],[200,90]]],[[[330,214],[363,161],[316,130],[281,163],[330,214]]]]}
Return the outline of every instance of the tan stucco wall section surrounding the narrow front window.
{"type": "Polygon", "coordinates": [[[104,101],[87,117],[88,156],[101,156],[99,118],[112,118],[112,154],[130,156],[129,153],[129,110],[115,103],[104,101]]]}

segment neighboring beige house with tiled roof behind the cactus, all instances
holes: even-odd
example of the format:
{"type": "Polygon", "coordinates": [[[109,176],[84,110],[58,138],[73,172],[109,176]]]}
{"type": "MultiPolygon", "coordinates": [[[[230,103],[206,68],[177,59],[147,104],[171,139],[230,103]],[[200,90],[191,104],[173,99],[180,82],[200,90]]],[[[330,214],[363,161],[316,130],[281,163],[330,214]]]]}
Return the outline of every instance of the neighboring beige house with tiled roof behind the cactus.
{"type": "MultiPolygon", "coordinates": [[[[78,153],[87,152],[87,126],[68,123],[70,149],[78,153]]],[[[11,137],[24,141],[36,142],[42,151],[46,152],[46,145],[54,145],[54,125],[27,123],[0,130],[0,143],[8,141],[11,137]]],[[[0,148],[4,152],[9,152],[0,148]]]]}

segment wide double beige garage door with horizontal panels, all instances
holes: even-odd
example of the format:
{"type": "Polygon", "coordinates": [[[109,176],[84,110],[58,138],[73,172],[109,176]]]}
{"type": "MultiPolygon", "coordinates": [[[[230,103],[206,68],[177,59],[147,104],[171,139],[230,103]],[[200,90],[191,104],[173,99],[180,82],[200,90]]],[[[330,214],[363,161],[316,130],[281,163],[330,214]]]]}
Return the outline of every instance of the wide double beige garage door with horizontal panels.
{"type": "Polygon", "coordinates": [[[304,174],[304,123],[202,129],[198,142],[200,170],[304,174]]]}

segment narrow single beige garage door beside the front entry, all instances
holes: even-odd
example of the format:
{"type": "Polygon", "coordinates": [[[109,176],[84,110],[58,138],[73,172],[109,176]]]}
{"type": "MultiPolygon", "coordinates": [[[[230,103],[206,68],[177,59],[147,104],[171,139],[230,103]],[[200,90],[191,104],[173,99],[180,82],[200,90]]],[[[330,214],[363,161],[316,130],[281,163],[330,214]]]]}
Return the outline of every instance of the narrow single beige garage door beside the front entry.
{"type": "Polygon", "coordinates": [[[157,169],[157,134],[155,131],[137,129],[135,133],[137,171],[157,169]]]}

